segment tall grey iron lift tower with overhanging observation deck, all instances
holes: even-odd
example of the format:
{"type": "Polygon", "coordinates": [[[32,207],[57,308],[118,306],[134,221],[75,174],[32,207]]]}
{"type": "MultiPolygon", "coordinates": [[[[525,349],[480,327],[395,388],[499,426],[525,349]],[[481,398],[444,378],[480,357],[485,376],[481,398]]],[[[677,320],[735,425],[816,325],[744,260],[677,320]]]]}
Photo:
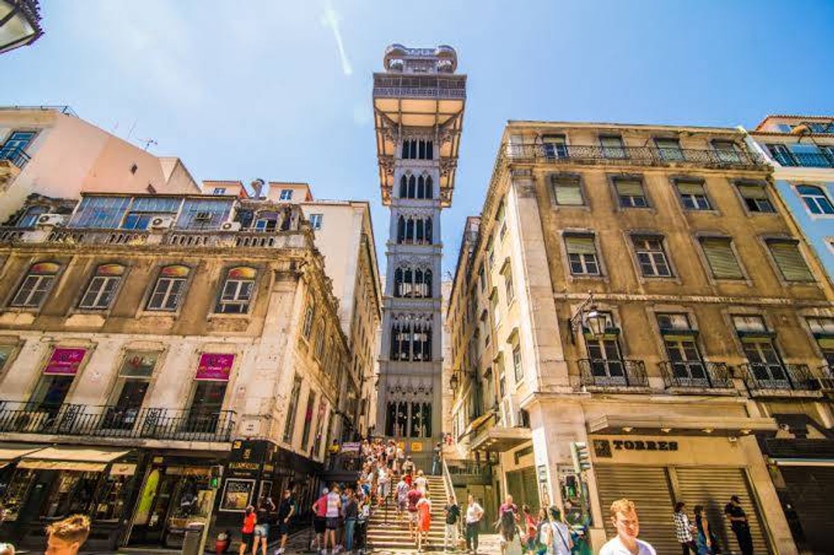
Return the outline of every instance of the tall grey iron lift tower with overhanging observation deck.
{"type": "Polygon", "coordinates": [[[430,470],[440,441],[440,212],[452,203],[466,101],[449,46],[385,49],[374,73],[382,202],[390,209],[377,432],[430,470]],[[422,461],[422,462],[421,462],[422,461]]]}

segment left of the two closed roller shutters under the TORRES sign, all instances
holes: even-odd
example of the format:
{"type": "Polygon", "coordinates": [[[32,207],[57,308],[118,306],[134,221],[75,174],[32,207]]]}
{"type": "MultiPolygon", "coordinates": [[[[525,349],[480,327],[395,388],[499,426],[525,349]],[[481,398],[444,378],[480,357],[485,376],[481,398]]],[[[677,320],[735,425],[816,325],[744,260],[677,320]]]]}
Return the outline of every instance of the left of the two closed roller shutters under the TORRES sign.
{"type": "Polygon", "coordinates": [[[675,507],[672,506],[666,468],[600,465],[594,471],[607,537],[614,537],[617,533],[608,514],[611,503],[629,498],[637,506],[640,538],[651,543],[658,553],[681,552],[681,545],[675,537],[672,517],[675,507]]]}

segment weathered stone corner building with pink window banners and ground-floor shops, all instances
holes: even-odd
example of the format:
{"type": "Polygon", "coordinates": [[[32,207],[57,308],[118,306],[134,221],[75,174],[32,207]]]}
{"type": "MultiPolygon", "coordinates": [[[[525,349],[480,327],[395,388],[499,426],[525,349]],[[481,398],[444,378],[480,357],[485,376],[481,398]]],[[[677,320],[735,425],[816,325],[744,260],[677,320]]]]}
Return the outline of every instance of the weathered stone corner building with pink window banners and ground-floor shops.
{"type": "Polygon", "coordinates": [[[177,546],[282,488],[309,507],[359,377],[301,206],[91,193],[18,226],[29,208],[0,228],[3,537],[88,512],[91,547],[177,546]]]}

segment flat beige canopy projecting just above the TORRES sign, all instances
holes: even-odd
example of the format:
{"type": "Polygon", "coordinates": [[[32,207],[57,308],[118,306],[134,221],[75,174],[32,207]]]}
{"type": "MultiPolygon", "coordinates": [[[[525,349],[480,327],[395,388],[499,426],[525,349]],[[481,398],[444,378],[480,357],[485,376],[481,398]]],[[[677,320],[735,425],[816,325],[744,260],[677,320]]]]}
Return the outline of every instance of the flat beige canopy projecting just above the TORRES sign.
{"type": "Polygon", "coordinates": [[[773,418],[635,416],[607,414],[588,423],[588,433],[670,433],[676,436],[740,436],[749,433],[776,433],[773,418]]]}

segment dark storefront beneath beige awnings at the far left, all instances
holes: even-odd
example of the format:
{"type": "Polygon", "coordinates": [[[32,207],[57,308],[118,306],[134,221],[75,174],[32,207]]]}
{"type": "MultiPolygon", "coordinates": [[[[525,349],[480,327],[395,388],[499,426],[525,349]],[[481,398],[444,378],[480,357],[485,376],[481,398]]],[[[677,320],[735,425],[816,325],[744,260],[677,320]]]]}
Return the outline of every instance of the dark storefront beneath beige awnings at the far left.
{"type": "Polygon", "coordinates": [[[3,537],[43,547],[43,528],[71,514],[88,514],[94,549],[114,549],[136,488],[138,456],[119,448],[48,447],[13,463],[3,493],[3,537]]]}

